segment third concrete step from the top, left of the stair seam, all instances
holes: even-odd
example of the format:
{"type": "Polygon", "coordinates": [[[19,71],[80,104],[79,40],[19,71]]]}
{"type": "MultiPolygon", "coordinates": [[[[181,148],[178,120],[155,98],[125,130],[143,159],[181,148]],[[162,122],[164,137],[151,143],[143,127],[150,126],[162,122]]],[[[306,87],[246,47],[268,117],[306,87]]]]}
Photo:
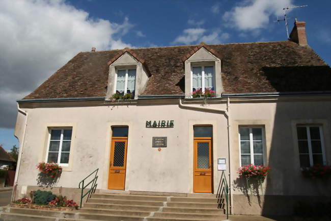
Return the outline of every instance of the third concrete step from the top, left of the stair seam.
{"type": "Polygon", "coordinates": [[[88,202],[88,203],[84,204],[84,208],[155,212],[155,211],[159,210],[160,207],[159,206],[121,205],[121,204],[105,204],[105,203],[88,202]]]}

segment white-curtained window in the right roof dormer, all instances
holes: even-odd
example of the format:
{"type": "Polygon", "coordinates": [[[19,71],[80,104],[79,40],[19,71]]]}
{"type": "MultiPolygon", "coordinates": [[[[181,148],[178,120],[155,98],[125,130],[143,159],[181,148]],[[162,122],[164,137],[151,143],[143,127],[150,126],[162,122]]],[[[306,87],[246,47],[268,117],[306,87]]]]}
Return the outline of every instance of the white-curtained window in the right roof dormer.
{"type": "Polygon", "coordinates": [[[198,89],[205,92],[205,89],[214,90],[214,66],[193,66],[192,67],[192,91],[198,89]]]}

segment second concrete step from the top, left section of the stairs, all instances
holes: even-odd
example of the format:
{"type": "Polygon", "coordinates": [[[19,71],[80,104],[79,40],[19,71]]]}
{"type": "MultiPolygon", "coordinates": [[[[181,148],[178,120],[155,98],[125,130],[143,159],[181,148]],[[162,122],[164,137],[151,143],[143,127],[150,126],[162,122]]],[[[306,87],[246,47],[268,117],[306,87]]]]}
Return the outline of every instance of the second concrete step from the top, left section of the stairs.
{"type": "Polygon", "coordinates": [[[142,206],[163,206],[163,201],[142,201],[142,200],[118,200],[118,199],[97,199],[91,198],[89,203],[121,204],[121,205],[142,205],[142,206]]]}

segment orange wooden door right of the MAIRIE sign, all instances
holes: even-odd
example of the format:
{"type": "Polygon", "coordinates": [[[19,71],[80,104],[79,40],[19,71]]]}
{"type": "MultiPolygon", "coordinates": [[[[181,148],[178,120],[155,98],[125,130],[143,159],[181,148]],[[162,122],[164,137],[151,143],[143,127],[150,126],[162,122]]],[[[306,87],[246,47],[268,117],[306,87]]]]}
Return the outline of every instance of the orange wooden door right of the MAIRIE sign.
{"type": "Polygon", "coordinates": [[[212,192],[212,149],[210,137],[194,139],[194,192],[212,192]]]}

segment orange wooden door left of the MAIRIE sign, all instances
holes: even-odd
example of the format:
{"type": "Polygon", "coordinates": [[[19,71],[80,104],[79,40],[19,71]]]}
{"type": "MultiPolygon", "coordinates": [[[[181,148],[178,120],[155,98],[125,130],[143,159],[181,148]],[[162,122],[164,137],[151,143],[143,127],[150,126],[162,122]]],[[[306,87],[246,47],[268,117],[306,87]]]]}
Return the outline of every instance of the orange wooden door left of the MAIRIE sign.
{"type": "Polygon", "coordinates": [[[127,137],[112,138],[108,189],[125,188],[127,137]]]}

